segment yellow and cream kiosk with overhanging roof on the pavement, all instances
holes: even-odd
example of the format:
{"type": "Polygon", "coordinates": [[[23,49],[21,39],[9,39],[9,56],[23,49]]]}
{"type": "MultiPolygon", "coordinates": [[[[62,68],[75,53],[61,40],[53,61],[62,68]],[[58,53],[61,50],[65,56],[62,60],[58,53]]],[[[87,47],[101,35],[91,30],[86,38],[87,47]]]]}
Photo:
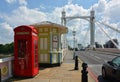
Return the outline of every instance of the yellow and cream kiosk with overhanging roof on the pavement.
{"type": "Polygon", "coordinates": [[[38,51],[40,64],[62,63],[61,35],[68,32],[67,27],[48,21],[36,23],[38,30],[38,51]]]}

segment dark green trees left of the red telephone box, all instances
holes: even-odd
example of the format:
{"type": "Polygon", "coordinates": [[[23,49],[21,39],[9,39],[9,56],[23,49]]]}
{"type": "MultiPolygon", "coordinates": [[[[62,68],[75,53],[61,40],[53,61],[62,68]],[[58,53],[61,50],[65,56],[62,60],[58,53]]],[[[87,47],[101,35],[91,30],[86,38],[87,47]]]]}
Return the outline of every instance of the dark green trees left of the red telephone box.
{"type": "Polygon", "coordinates": [[[0,44],[0,54],[10,54],[14,52],[14,43],[0,44]]]}

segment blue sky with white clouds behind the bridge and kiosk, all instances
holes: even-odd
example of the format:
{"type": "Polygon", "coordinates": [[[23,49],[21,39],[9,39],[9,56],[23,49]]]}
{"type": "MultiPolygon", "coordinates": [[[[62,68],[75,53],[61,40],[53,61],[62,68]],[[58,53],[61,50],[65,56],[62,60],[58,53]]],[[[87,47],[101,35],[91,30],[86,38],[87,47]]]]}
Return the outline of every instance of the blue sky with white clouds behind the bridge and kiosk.
{"type": "MultiPolygon", "coordinates": [[[[95,20],[120,29],[120,0],[1,0],[0,1],[0,44],[14,41],[13,29],[19,25],[30,25],[42,21],[61,24],[61,12],[66,16],[90,16],[95,11],[95,20]]],[[[90,24],[83,19],[67,22],[68,43],[73,44],[72,31],[76,31],[79,44],[90,43],[90,24]]],[[[95,24],[95,41],[104,44],[109,38],[99,27],[105,29],[111,38],[119,39],[120,34],[110,28],[95,24]]],[[[120,41],[120,39],[119,39],[120,41]]]]}

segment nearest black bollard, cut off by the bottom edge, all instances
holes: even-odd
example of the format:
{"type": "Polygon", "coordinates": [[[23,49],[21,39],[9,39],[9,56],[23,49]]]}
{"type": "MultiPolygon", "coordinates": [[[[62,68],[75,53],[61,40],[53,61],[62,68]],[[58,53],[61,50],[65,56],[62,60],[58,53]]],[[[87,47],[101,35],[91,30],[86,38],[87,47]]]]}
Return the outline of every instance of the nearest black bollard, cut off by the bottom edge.
{"type": "Polygon", "coordinates": [[[88,82],[88,76],[87,76],[87,74],[88,74],[88,71],[87,71],[87,67],[88,67],[88,65],[87,65],[87,63],[82,63],[82,71],[81,71],[81,73],[82,73],[82,81],[81,82],[88,82]]]}

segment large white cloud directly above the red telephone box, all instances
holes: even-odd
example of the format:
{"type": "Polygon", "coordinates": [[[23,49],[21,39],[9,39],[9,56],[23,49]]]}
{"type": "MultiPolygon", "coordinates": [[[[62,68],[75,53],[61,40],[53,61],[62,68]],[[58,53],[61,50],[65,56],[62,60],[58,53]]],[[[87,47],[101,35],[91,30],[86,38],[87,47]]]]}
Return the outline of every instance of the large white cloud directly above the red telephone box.
{"type": "Polygon", "coordinates": [[[4,18],[10,25],[18,26],[41,22],[46,20],[46,15],[37,9],[29,9],[26,6],[20,6],[18,9],[14,10],[11,15],[4,15],[4,18]]]}

